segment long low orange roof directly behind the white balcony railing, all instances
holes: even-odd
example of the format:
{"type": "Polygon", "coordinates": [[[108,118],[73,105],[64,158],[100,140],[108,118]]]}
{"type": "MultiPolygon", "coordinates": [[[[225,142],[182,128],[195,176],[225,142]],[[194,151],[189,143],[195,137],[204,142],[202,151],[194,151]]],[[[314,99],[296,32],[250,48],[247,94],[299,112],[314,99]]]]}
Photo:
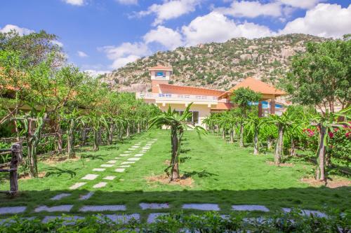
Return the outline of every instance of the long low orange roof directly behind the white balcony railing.
{"type": "Polygon", "coordinates": [[[198,95],[207,95],[219,97],[221,94],[225,93],[220,90],[207,89],[203,87],[186,87],[179,85],[170,85],[170,84],[159,84],[159,89],[162,93],[167,94],[198,94],[198,95]]]}

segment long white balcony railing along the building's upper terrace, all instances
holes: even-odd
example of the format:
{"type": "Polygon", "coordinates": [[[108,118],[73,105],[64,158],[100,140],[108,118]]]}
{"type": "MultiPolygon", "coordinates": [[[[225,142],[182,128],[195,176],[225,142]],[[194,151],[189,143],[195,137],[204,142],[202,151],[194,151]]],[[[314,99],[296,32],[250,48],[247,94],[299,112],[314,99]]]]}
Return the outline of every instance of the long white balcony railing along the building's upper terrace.
{"type": "Polygon", "coordinates": [[[154,99],[165,101],[210,101],[218,102],[218,97],[208,95],[195,95],[195,94],[168,94],[168,93],[150,93],[150,92],[137,92],[137,99],[154,99]]]}

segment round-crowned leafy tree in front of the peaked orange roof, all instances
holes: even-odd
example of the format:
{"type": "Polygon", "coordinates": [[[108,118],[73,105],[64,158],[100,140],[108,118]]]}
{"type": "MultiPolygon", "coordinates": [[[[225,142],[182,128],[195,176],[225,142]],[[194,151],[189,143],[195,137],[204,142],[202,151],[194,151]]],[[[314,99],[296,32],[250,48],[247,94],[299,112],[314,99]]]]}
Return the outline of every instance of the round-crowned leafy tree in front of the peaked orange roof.
{"type": "Polygon", "coordinates": [[[262,94],[254,92],[249,87],[240,87],[233,91],[232,101],[240,109],[240,147],[244,147],[244,120],[246,119],[251,103],[260,101],[262,94]]]}

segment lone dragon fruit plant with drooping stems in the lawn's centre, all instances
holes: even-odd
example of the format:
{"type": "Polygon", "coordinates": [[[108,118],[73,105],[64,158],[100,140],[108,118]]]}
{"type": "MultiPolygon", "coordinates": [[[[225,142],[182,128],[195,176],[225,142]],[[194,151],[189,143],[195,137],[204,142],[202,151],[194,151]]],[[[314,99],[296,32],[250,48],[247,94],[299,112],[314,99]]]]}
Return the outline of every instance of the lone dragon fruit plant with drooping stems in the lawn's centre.
{"type": "Polygon", "coordinates": [[[189,104],[185,109],[184,113],[180,115],[176,111],[171,110],[171,106],[169,106],[168,111],[161,113],[160,115],[155,116],[150,120],[150,127],[170,127],[171,129],[171,164],[169,167],[165,169],[168,174],[168,169],[171,168],[171,181],[179,179],[179,147],[181,143],[181,139],[183,133],[186,129],[194,129],[200,135],[201,133],[205,133],[206,129],[203,127],[193,127],[190,126],[190,122],[187,121],[188,118],[191,117],[192,113],[189,111],[189,104]]]}

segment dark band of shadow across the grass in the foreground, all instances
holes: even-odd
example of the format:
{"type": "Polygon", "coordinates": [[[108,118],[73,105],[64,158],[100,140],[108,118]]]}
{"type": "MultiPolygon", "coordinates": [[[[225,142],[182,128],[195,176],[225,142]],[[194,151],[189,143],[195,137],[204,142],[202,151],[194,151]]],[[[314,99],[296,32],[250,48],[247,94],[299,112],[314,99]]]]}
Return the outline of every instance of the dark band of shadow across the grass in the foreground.
{"type": "MultiPolygon", "coordinates": [[[[171,185],[170,187],[174,187],[171,185]]],[[[39,205],[58,206],[61,204],[74,204],[69,214],[83,214],[79,211],[84,205],[112,205],[126,204],[125,213],[149,213],[154,210],[142,211],[139,204],[168,203],[171,209],[159,209],[158,212],[180,211],[183,204],[213,203],[219,204],[222,213],[230,213],[233,204],[265,205],[271,211],[281,210],[282,207],[295,207],[326,211],[326,209],[340,209],[347,211],[351,207],[351,187],[331,188],[272,188],[256,190],[179,190],[179,191],[111,191],[95,190],[93,197],[86,201],[79,201],[81,195],[86,195],[91,190],[41,190],[21,191],[17,197],[10,198],[0,194],[0,206],[27,206],[25,215],[47,215],[48,213],[34,213],[39,205]],[[72,193],[58,201],[50,200],[51,197],[62,192],[72,193]]],[[[184,210],[186,213],[196,212],[184,210]]],[[[116,212],[114,212],[116,213],[116,212]]],[[[60,215],[61,213],[51,213],[60,215]]],[[[91,213],[88,213],[91,214],[91,213]]],[[[3,216],[0,216],[2,218],[3,216]]]]}

